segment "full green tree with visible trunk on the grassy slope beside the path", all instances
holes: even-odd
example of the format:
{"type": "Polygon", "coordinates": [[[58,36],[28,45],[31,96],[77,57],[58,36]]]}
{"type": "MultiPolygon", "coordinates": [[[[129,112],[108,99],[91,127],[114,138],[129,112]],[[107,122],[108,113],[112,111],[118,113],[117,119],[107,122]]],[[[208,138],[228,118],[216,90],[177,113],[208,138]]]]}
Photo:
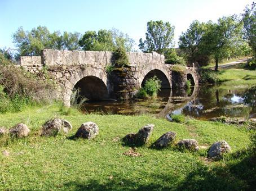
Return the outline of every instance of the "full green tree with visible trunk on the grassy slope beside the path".
{"type": "Polygon", "coordinates": [[[202,47],[206,53],[211,54],[215,60],[215,71],[218,63],[227,58],[233,44],[242,41],[242,25],[235,16],[222,17],[218,23],[208,23],[207,30],[202,36],[202,47]]]}

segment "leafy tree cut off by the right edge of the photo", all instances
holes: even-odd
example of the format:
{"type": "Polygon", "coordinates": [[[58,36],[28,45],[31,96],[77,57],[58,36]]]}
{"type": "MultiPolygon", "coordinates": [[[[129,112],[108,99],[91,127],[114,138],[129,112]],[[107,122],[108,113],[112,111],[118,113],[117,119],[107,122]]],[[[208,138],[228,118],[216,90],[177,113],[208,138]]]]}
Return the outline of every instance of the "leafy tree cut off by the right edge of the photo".
{"type": "Polygon", "coordinates": [[[248,40],[250,47],[253,49],[253,54],[256,56],[256,3],[251,4],[251,8],[245,7],[245,13],[242,14],[244,22],[245,37],[248,40]]]}

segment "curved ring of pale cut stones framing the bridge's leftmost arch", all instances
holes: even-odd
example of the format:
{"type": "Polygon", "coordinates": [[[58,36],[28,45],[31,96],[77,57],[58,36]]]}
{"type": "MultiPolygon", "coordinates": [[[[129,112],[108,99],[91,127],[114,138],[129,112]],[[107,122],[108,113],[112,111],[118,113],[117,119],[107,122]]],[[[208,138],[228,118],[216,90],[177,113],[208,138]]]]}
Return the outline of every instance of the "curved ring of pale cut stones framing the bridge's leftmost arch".
{"type": "Polygon", "coordinates": [[[104,70],[95,69],[91,66],[80,69],[74,72],[74,74],[70,75],[70,78],[65,81],[63,102],[66,106],[70,106],[70,97],[75,85],[78,83],[78,81],[88,76],[94,76],[95,78],[100,79],[104,83],[105,87],[108,87],[107,74],[104,70]]]}

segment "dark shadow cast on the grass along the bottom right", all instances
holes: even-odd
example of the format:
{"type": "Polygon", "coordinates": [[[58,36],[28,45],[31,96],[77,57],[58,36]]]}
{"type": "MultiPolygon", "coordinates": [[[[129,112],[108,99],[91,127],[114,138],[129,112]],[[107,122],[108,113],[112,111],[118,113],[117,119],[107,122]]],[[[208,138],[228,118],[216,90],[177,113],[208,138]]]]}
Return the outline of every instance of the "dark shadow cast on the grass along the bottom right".
{"type": "MultiPolygon", "coordinates": [[[[248,153],[235,153],[226,166],[206,166],[198,163],[195,170],[183,174],[152,174],[144,180],[125,175],[114,175],[111,179],[70,181],[63,186],[70,190],[255,190],[255,156],[248,153]]],[[[148,176],[146,176],[148,177],[148,176]]]]}

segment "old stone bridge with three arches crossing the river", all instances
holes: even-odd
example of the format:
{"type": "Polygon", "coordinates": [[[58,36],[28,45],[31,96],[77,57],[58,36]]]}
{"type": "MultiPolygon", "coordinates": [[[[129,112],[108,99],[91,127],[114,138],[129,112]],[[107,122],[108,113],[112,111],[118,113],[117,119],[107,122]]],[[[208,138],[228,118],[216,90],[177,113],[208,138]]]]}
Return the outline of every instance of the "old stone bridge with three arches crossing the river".
{"type": "Polygon", "coordinates": [[[180,88],[189,79],[198,84],[195,67],[183,67],[173,72],[174,65],[165,64],[165,57],[156,52],[129,52],[130,66],[109,71],[114,62],[112,52],[107,51],[59,51],[44,49],[41,56],[21,57],[21,66],[33,73],[48,70],[56,82],[56,98],[70,106],[74,88],[90,100],[133,98],[145,80],[156,75],[162,89],[180,88]],[[175,76],[175,78],[172,78],[175,76]]]}

